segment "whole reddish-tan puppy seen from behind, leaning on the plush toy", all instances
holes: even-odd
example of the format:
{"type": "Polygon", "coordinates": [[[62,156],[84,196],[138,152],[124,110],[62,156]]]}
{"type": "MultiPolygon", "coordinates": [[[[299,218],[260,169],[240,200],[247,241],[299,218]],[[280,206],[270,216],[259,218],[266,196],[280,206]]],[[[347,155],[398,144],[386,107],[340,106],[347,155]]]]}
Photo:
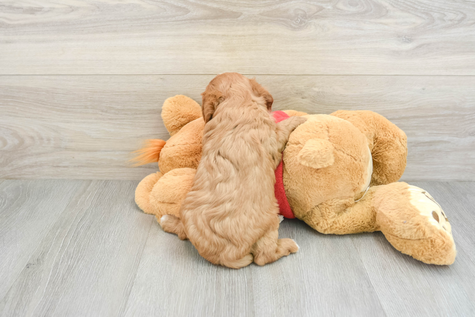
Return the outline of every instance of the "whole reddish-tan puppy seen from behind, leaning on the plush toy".
{"type": "Polygon", "coordinates": [[[188,238],[208,261],[241,268],[273,262],[297,252],[291,239],[278,239],[274,196],[281,152],[306,119],[275,123],[272,96],[238,73],[216,76],[203,95],[203,153],[180,219],[165,215],[165,231],[188,238]]]}

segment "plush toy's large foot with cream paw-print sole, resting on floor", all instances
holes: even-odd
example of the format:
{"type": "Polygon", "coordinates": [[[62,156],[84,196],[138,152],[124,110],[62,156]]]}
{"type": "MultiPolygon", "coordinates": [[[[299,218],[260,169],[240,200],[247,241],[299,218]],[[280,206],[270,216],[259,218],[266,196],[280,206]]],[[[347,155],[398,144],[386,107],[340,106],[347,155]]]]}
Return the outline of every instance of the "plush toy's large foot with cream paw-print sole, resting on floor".
{"type": "Polygon", "coordinates": [[[379,186],[373,198],[376,223],[399,251],[428,264],[449,265],[457,254],[441,206],[422,188],[396,182],[379,186]]]}

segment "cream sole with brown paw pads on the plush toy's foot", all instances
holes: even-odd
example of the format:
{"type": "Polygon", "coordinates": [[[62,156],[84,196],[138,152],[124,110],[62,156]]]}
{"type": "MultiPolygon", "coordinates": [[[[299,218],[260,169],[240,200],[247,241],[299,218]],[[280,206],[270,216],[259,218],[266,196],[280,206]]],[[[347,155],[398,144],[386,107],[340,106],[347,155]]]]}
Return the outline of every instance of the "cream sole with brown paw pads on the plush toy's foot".
{"type": "Polygon", "coordinates": [[[411,204],[427,219],[428,223],[445,232],[453,240],[452,227],[439,203],[422,188],[409,185],[409,192],[411,204]]]}

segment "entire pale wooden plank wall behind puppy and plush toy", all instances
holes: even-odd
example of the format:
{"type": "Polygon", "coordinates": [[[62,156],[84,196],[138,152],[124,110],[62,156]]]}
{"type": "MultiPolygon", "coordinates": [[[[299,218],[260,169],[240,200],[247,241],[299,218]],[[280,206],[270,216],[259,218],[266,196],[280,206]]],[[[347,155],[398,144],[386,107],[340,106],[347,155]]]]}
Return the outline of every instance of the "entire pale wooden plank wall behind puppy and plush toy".
{"type": "Polygon", "coordinates": [[[218,73],[274,109],[377,111],[409,138],[403,180],[475,180],[475,3],[429,0],[5,2],[0,178],[140,180],[163,101],[218,73]]]}

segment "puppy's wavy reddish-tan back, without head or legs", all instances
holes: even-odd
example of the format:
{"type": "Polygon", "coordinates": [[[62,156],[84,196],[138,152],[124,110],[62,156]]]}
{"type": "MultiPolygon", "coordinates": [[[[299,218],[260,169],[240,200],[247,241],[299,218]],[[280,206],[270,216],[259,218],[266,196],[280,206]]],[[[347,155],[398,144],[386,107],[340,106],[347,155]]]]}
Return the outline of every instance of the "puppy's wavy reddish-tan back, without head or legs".
{"type": "MultiPolygon", "coordinates": [[[[233,267],[277,219],[269,113],[253,103],[225,107],[205,126],[203,154],[181,214],[188,238],[209,261],[233,267]]],[[[275,137],[274,137],[275,138],[275,137]]]]}

